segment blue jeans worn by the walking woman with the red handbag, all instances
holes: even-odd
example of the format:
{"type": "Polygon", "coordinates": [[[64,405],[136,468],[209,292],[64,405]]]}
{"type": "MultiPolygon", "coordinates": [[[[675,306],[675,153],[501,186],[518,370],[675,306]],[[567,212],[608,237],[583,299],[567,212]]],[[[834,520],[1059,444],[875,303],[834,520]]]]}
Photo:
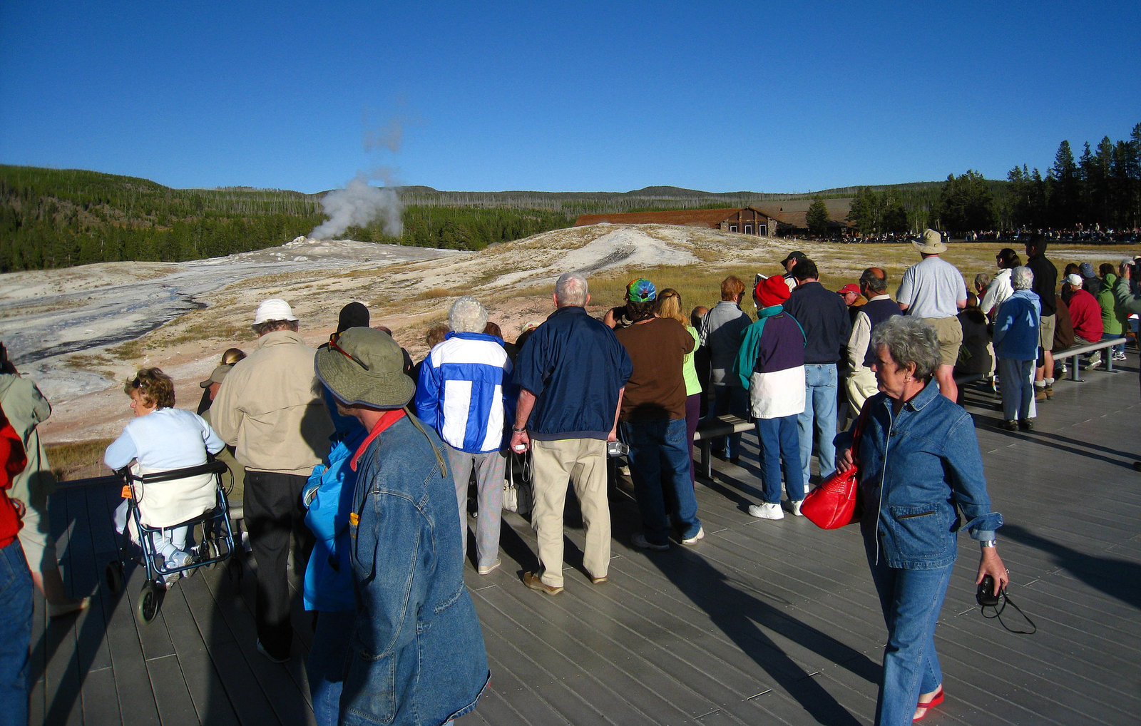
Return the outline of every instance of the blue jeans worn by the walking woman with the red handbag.
{"type": "Polygon", "coordinates": [[[920,694],[942,683],[934,628],[955,563],[932,570],[901,570],[889,567],[881,556],[876,564],[874,537],[864,538],[864,550],[888,626],[875,723],[909,726],[920,694]]]}

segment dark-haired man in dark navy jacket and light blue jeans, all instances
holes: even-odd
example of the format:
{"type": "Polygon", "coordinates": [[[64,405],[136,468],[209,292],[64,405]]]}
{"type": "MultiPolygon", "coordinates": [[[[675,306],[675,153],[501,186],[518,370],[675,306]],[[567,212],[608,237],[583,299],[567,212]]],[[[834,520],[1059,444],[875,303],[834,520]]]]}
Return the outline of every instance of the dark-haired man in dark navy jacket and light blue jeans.
{"type": "Polygon", "coordinates": [[[843,298],[820,284],[816,263],[804,258],[793,267],[796,289],[784,309],[804,331],[804,411],[800,429],[800,463],[808,483],[811,474],[812,433],[817,435],[820,476],[836,470],[836,362],[851,337],[852,323],[843,298]]]}

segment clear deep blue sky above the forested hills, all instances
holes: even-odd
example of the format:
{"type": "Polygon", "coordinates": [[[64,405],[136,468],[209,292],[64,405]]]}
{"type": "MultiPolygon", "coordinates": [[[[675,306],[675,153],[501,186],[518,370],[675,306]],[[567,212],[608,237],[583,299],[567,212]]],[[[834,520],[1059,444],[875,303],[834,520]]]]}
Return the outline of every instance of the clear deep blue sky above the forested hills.
{"type": "Polygon", "coordinates": [[[172,187],[808,192],[1138,122],[1135,0],[0,3],[0,162],[172,187]]]}

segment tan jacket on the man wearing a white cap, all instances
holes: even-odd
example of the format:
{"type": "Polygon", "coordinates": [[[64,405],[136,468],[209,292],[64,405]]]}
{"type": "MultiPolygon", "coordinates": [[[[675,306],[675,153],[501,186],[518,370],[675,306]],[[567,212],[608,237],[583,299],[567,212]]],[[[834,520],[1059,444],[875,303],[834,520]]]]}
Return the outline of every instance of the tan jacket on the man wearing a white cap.
{"type": "Polygon", "coordinates": [[[248,469],[308,476],[329,453],[333,424],[313,370],[316,350],[278,330],[258,338],[210,406],[213,428],[248,469]]]}

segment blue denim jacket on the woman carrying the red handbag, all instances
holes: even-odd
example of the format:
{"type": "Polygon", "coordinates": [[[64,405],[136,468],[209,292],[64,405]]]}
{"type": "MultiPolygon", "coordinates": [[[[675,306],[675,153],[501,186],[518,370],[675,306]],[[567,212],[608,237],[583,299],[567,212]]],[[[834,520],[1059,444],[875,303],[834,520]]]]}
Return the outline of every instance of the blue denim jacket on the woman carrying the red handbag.
{"type": "MultiPolygon", "coordinates": [[[[939,395],[933,380],[898,414],[882,393],[865,405],[860,531],[877,538],[877,556],[889,567],[930,570],[955,562],[961,529],[976,540],[994,539],[1002,515],[990,510],[971,414],[939,395]],[[966,519],[962,527],[958,513],[966,519]]],[[[850,433],[842,436],[837,445],[850,446],[850,433]]]]}

